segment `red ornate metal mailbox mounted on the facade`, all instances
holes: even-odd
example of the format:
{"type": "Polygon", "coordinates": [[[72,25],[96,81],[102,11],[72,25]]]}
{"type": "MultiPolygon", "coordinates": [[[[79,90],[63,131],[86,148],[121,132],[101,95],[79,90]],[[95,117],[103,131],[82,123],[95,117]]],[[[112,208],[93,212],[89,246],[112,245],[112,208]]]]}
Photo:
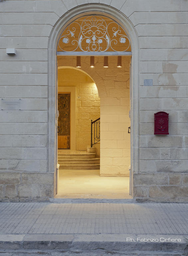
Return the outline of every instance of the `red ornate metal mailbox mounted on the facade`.
{"type": "Polygon", "coordinates": [[[154,114],[154,134],[165,135],[168,133],[168,113],[160,111],[154,114]]]}

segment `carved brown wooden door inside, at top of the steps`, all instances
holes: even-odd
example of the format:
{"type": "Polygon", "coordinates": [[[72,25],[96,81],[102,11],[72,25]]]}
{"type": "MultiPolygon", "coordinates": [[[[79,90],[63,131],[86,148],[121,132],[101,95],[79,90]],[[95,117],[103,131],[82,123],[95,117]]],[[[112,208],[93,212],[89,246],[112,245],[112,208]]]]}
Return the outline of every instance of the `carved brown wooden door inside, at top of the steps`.
{"type": "Polygon", "coordinates": [[[58,148],[70,149],[70,93],[58,93],[58,148]]]}

